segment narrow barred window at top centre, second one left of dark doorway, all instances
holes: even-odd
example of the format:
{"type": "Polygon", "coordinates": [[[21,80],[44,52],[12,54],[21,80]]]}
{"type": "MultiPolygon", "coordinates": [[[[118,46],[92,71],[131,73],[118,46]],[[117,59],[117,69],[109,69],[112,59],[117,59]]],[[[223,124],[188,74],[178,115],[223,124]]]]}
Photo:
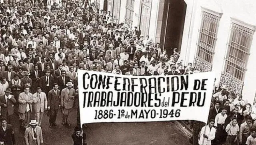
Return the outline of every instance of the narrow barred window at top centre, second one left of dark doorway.
{"type": "Polygon", "coordinates": [[[127,0],[127,3],[126,3],[126,14],[125,14],[124,22],[130,28],[132,27],[133,8],[134,8],[134,0],[127,0]]]}

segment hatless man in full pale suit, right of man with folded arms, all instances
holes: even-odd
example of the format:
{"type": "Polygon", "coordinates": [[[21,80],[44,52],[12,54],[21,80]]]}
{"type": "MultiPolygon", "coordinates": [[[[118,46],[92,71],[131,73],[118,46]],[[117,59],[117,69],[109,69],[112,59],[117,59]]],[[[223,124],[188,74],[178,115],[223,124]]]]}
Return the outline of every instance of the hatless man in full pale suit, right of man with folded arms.
{"type": "Polygon", "coordinates": [[[40,87],[36,88],[36,93],[33,94],[33,112],[35,119],[38,121],[38,125],[41,126],[42,118],[44,116],[44,110],[47,110],[47,98],[46,94],[42,92],[40,87]]]}

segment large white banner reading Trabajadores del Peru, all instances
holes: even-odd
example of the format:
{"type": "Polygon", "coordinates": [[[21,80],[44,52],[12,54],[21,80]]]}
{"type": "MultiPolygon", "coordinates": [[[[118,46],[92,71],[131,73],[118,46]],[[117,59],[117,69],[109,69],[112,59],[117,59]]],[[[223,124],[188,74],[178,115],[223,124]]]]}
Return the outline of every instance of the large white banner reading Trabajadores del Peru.
{"type": "Polygon", "coordinates": [[[80,121],[207,122],[214,74],[126,76],[78,70],[80,121]]]}

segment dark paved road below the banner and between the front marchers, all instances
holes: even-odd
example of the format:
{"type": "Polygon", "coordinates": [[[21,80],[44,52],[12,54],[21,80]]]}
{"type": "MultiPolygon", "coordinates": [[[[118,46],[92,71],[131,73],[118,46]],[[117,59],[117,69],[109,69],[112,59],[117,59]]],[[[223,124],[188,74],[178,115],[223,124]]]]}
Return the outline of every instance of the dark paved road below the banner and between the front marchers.
{"type": "MultiPolygon", "coordinates": [[[[61,125],[62,114],[58,112],[58,127],[48,127],[48,117],[44,116],[42,131],[44,145],[72,145],[71,133],[76,125],[76,111],[72,110],[71,127],[61,125]]],[[[17,145],[25,145],[24,131],[20,131],[18,117],[15,116],[14,131],[17,145]]],[[[86,129],[88,145],[189,145],[188,137],[172,122],[146,123],[93,123],[86,129]]]]}

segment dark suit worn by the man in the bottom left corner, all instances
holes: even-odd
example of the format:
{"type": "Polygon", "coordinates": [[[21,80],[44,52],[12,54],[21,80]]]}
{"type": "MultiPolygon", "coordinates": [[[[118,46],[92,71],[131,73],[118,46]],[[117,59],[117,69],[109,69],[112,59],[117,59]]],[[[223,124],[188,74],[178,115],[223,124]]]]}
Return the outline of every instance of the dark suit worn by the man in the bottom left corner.
{"type": "Polygon", "coordinates": [[[4,131],[3,127],[0,127],[0,139],[4,139],[6,141],[5,145],[14,145],[16,144],[14,131],[12,129],[12,125],[6,125],[6,131],[4,131]]]}

